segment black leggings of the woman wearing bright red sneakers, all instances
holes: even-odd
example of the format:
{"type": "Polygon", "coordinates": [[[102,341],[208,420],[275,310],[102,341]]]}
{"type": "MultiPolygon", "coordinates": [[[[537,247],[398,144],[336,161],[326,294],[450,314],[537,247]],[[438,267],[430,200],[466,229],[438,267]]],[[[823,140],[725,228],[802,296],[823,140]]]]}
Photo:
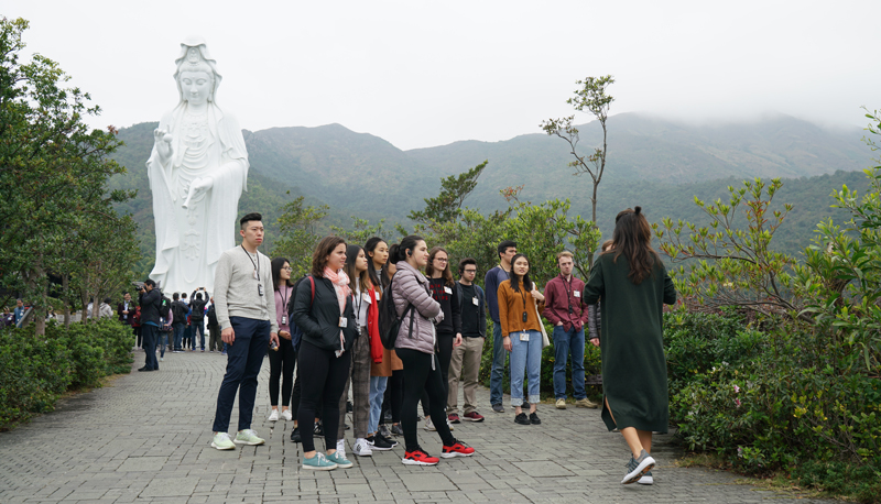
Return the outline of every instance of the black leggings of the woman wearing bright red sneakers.
{"type": "Polygon", "coordinates": [[[434,353],[424,353],[418,350],[399,348],[395,351],[404,363],[404,405],[401,412],[403,414],[401,424],[404,429],[406,451],[420,448],[420,442],[416,438],[416,404],[420,402],[422,391],[428,393],[432,421],[437,428],[440,440],[444,446],[453,446],[456,439],[449,432],[449,426],[447,425],[447,398],[444,392],[446,387],[440,376],[437,358],[434,353]],[[434,362],[434,369],[432,369],[432,362],[434,362]]]}

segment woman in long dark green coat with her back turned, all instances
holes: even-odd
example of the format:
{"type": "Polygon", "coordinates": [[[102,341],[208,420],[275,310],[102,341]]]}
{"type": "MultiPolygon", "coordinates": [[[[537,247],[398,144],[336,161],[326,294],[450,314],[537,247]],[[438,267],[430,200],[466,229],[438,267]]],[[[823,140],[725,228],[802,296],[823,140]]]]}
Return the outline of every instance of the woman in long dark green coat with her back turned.
{"type": "Polygon", "coordinates": [[[652,249],[642,209],[627,209],[614,220],[612,246],[594,264],[585,302],[602,299],[602,419],[609,430],[621,431],[633,452],[621,481],[629,484],[651,474],[652,431],[667,431],[663,305],[676,302],[676,289],[652,249]]]}

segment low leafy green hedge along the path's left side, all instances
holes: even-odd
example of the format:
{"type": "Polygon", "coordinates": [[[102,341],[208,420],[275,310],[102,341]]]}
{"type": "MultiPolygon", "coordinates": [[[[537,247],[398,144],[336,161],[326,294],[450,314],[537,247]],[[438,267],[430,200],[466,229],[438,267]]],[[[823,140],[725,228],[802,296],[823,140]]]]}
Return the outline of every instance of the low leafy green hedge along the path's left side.
{"type": "Polygon", "coordinates": [[[127,373],[134,344],[131,329],[102,319],[69,328],[50,322],[0,330],[0,430],[51,412],[70,388],[100,386],[100,379],[127,373]]]}

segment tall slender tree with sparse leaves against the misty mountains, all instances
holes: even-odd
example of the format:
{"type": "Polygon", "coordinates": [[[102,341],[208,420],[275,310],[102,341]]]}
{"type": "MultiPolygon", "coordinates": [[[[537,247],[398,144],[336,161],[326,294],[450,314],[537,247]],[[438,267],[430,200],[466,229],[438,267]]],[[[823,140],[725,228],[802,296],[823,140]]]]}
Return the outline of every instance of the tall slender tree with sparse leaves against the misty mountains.
{"type": "MultiPolygon", "coordinates": [[[[569,144],[569,153],[575,157],[575,160],[569,163],[569,167],[575,169],[574,175],[588,174],[590,176],[594,184],[594,190],[590,196],[590,221],[596,227],[597,189],[599,188],[600,182],[602,182],[602,175],[606,173],[606,121],[609,118],[609,106],[614,101],[614,98],[606,92],[606,88],[614,84],[614,78],[611,75],[587,77],[584,80],[576,80],[575,84],[581,86],[581,88],[576,89],[575,96],[566,100],[566,102],[572,105],[575,110],[579,112],[589,112],[599,121],[600,128],[602,128],[602,146],[595,147],[594,152],[588,155],[578,154],[577,147],[580,136],[578,129],[573,124],[575,116],[542,121],[541,128],[548,135],[559,136],[569,144]]],[[[588,264],[592,266],[594,251],[591,250],[590,252],[591,253],[588,255],[588,264]]]]}

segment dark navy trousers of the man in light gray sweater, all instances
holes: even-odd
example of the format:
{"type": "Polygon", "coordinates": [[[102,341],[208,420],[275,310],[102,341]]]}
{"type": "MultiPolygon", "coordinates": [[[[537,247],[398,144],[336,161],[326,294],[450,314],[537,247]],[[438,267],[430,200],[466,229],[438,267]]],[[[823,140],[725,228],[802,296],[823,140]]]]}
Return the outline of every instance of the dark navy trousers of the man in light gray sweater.
{"type": "Polygon", "coordinates": [[[239,428],[251,428],[257,398],[257,376],[269,347],[269,320],[246,317],[230,317],[229,322],[236,331],[236,341],[229,346],[227,372],[220,392],[217,393],[217,410],[214,417],[215,432],[229,430],[232,403],[239,393],[239,428]]]}

